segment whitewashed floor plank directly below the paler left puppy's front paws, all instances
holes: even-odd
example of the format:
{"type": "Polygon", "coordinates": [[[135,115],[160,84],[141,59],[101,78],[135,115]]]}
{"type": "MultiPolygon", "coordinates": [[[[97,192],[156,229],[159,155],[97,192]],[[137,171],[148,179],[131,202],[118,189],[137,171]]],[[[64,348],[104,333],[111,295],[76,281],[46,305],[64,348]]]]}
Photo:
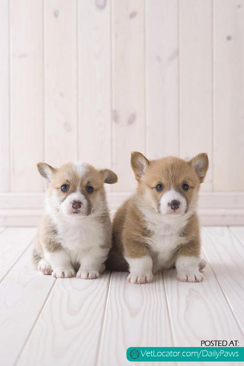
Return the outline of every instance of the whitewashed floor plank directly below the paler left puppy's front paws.
{"type": "Polygon", "coordinates": [[[57,280],[17,365],[95,365],[109,279],[57,280]]]}

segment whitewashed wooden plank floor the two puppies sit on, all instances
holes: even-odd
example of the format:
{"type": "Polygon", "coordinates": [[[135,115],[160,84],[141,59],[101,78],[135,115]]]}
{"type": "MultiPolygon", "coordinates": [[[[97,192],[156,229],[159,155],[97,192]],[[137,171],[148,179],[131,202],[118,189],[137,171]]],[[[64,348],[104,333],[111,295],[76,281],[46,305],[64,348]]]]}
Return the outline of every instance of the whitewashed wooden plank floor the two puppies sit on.
{"type": "Polygon", "coordinates": [[[35,232],[0,228],[2,366],[123,366],[130,346],[244,346],[244,227],[202,229],[201,284],[177,281],[175,270],[150,285],[120,272],[55,280],[32,269],[35,232]]]}

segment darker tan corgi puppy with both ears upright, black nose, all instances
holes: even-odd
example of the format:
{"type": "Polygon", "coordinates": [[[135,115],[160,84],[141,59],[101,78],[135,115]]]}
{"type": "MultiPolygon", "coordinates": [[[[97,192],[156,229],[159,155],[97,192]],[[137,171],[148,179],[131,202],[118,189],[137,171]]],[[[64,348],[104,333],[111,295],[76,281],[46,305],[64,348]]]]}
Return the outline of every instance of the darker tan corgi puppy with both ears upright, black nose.
{"type": "Polygon", "coordinates": [[[138,187],[115,215],[107,268],[129,270],[127,281],[133,284],[150,283],[153,273],[173,266],[180,281],[202,281],[206,263],[199,257],[196,208],[207,154],[187,162],[174,157],[147,160],[132,152],[131,166],[138,187]]]}

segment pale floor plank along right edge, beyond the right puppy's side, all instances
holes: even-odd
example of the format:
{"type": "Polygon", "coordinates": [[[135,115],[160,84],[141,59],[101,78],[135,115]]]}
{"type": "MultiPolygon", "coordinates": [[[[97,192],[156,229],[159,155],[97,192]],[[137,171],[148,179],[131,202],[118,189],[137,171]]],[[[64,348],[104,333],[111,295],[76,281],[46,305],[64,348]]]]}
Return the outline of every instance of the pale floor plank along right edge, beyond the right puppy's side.
{"type": "Polygon", "coordinates": [[[244,331],[244,246],[227,227],[203,228],[203,242],[204,253],[244,331]]]}

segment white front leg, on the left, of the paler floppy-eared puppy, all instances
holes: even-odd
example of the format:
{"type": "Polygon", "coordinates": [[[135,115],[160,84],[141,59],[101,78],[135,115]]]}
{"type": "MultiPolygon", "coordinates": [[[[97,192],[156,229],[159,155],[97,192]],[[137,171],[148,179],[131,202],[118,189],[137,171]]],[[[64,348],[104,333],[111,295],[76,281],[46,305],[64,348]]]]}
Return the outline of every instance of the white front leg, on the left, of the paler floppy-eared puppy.
{"type": "Polygon", "coordinates": [[[70,257],[61,246],[57,250],[46,251],[45,257],[53,268],[53,277],[69,278],[75,276],[75,270],[72,267],[70,257]]]}

